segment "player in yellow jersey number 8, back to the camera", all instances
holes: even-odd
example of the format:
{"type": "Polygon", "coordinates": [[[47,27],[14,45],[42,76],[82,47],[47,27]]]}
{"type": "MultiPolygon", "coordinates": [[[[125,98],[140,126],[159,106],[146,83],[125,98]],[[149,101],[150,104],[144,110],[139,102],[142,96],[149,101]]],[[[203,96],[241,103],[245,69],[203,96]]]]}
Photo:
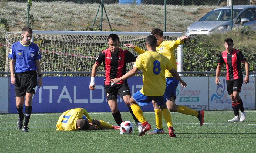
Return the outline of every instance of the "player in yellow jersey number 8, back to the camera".
{"type": "MultiPolygon", "coordinates": [[[[161,111],[167,110],[165,91],[165,70],[169,70],[173,77],[180,81],[183,87],[187,84],[180,78],[177,71],[173,68],[170,60],[156,51],[157,39],[153,35],[149,35],[146,38],[147,52],[140,54],[134,65],[133,69],[127,72],[120,78],[111,79],[111,83],[118,83],[121,80],[128,79],[134,76],[139,70],[143,70],[143,87],[140,91],[137,91],[130,98],[130,106],[133,114],[142,123],[142,132],[139,136],[144,135],[151,129],[151,125],[145,120],[142,109],[140,106],[145,106],[154,100],[161,111]]],[[[164,120],[168,125],[168,132],[170,137],[176,137],[172,126],[171,114],[167,113],[164,116],[164,120]]]]}

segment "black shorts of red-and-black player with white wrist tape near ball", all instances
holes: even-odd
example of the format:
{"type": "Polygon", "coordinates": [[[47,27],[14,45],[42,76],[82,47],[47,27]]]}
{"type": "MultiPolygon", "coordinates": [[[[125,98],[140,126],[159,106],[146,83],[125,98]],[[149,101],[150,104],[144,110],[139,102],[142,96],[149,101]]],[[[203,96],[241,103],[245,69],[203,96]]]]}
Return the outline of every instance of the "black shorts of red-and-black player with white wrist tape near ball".
{"type": "Polygon", "coordinates": [[[116,98],[117,94],[123,98],[123,96],[131,95],[130,88],[127,83],[123,84],[115,84],[114,86],[105,85],[105,94],[107,97],[107,101],[116,98]]]}

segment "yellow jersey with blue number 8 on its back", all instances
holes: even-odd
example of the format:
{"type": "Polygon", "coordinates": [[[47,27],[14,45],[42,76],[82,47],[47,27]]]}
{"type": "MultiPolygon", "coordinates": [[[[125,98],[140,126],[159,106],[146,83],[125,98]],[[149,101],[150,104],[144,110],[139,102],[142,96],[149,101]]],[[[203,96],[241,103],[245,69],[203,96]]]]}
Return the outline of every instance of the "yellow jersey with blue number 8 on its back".
{"type": "Polygon", "coordinates": [[[166,86],[165,70],[173,68],[170,60],[156,51],[140,54],[133,67],[143,71],[143,87],[140,92],[145,96],[163,96],[166,86]]]}

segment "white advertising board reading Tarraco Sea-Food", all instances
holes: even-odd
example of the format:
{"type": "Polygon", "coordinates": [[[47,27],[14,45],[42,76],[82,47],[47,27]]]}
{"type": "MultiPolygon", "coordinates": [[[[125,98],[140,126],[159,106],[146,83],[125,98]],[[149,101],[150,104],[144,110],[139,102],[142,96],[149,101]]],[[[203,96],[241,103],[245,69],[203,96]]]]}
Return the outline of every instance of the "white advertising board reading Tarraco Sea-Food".
{"type": "Polygon", "coordinates": [[[182,77],[182,80],[187,87],[177,86],[175,103],[194,110],[208,110],[208,78],[182,77]]]}

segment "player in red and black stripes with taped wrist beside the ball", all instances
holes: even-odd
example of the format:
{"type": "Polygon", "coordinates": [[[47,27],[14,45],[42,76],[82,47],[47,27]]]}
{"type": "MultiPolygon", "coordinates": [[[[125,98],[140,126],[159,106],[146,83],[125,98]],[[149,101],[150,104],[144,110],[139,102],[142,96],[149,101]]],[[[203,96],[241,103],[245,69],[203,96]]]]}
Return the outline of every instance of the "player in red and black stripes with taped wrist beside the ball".
{"type": "Polygon", "coordinates": [[[140,131],[142,129],[141,124],[134,116],[133,111],[130,107],[129,99],[131,98],[131,92],[127,84],[127,80],[120,81],[113,86],[111,86],[110,83],[110,79],[120,78],[121,76],[126,74],[126,64],[130,62],[135,62],[136,56],[127,50],[119,48],[119,37],[116,34],[110,34],[108,36],[108,45],[109,48],[99,53],[99,56],[96,59],[95,64],[93,65],[89,89],[95,89],[94,77],[96,76],[99,65],[103,63],[105,68],[105,94],[117,125],[120,126],[120,124],[123,122],[121,114],[117,107],[118,94],[128,106],[128,109],[132,114],[136,125],[138,126],[138,128],[140,127],[140,131]]]}

